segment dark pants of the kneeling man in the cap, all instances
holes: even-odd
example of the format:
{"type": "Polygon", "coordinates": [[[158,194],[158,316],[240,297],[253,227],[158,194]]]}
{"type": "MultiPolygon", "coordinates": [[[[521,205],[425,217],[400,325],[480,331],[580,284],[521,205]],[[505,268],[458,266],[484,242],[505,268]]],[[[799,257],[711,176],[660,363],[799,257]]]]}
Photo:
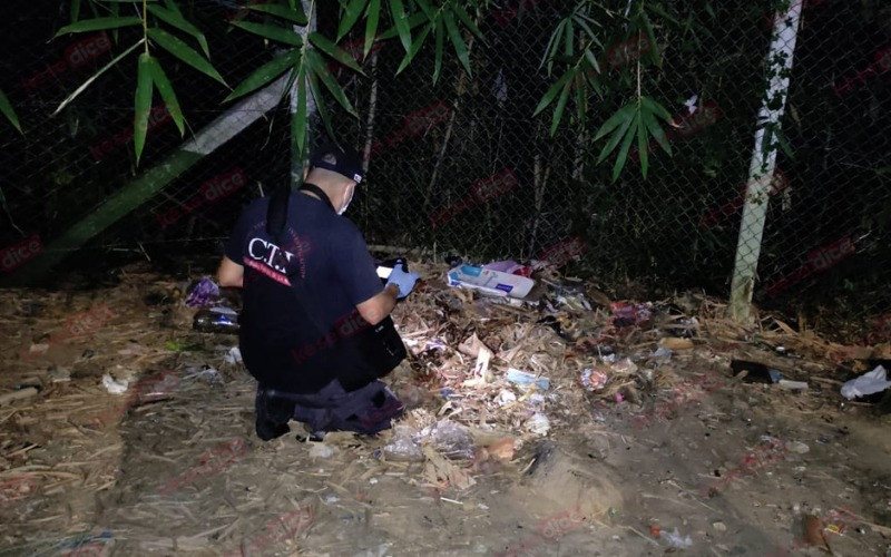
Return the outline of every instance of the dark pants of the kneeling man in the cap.
{"type": "Polygon", "coordinates": [[[292,419],[319,431],[355,431],[374,434],[389,429],[402,416],[402,402],[380,381],[345,391],[336,379],[320,391],[295,394],[257,385],[257,436],[264,441],[284,436],[292,419]]]}

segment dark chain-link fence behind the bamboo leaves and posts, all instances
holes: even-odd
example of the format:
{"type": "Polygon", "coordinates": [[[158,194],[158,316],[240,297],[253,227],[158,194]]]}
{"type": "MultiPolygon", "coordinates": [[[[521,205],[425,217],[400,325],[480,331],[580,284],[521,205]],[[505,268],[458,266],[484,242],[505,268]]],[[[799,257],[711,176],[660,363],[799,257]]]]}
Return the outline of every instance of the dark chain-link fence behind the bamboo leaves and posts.
{"type": "MultiPolygon", "coordinates": [[[[361,60],[368,77],[332,63],[360,114],[335,111],[335,133],[370,157],[368,185],[350,209],[369,243],[479,260],[556,258],[568,262],[566,272],[617,294],[702,289],[730,296],[777,7],[678,2],[664,8],[652,45],[621,17],[629,4],[611,3],[615,17],[600,29],[605,94],[586,100],[585,126],[575,121],[572,99],[552,136],[551,110],[532,114],[557,77],[541,60],[570,2],[495,3],[479,20],[486,40],[468,37],[472,75],[447,56],[435,86],[430,46],[399,76],[404,51],[398,39],[379,41],[361,60]],[[645,56],[654,48],[660,66],[645,56]],[[595,134],[638,87],[674,116],[672,155],[650,145],[645,179],[633,149],[614,182],[615,155],[595,164],[605,141],[595,134]]],[[[185,4],[229,85],[275,53],[228,27],[227,19],[255,17],[237,3],[185,4]]],[[[135,61],[50,116],[130,32],[47,42],[67,22],[66,6],[32,2],[8,10],[0,23],[9,52],[0,89],[25,128],[23,138],[0,128],[7,273],[183,141],[158,105],[136,167],[135,61]]],[[[331,36],[336,6],[323,8],[320,30],[331,36]]],[[[341,46],[361,59],[361,40],[347,36],[341,46]]],[[[755,201],[766,209],[755,304],[848,339],[868,334],[891,311],[890,59],[890,7],[806,1],[775,141],[786,148],[779,150],[775,174],[755,184],[755,201]]],[[[218,84],[173,59],[164,62],[192,130],[231,114],[218,84]]],[[[244,204],[288,179],[288,126],[285,101],[72,258],[148,255],[157,262],[216,253],[244,204]]]]}

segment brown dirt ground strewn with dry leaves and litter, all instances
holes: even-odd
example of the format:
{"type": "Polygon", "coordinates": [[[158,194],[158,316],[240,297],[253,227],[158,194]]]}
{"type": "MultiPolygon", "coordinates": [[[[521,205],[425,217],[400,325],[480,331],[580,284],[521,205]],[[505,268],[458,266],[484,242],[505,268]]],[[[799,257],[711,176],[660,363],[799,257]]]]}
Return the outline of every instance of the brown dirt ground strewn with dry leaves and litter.
{"type": "MultiPolygon", "coordinates": [[[[0,393],[22,397],[0,404],[0,555],[891,555],[889,417],[844,401],[813,342],[730,335],[693,307],[692,348],[654,356],[654,326],[605,363],[540,309],[456,297],[441,275],[398,307],[412,356],[386,381],[429,394],[405,431],[469,433],[453,460],[432,444],[394,459],[392,432],[298,440],[294,422],[260,441],[255,383],[226,362],[236,338],[192,331],[169,277],[0,292],[0,393]],[[489,383],[464,383],[472,331],[495,352],[489,383]],[[732,359],[809,389],[741,381],[732,359]],[[510,367],[548,389],[523,392],[510,367]],[[588,391],[582,369],[606,385],[588,391]],[[108,392],[106,373],[129,389],[108,392]]],[[[552,309],[566,330],[608,314],[552,309]]]]}

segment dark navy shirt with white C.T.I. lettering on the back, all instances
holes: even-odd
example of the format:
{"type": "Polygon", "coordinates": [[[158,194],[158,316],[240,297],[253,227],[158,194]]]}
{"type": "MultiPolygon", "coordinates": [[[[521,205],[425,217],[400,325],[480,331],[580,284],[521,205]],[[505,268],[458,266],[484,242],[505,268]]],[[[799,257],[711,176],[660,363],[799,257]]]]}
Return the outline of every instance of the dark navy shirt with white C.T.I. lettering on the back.
{"type": "Polygon", "coordinates": [[[268,206],[268,197],[248,205],[226,247],[245,267],[242,356],[264,387],[311,392],[344,371],[332,369],[343,365],[334,358],[337,330],[349,330],[355,306],[383,287],[362,234],[325,202],[290,196],[284,245],[266,233],[268,206]],[[288,275],[302,282],[302,304],[288,275]]]}

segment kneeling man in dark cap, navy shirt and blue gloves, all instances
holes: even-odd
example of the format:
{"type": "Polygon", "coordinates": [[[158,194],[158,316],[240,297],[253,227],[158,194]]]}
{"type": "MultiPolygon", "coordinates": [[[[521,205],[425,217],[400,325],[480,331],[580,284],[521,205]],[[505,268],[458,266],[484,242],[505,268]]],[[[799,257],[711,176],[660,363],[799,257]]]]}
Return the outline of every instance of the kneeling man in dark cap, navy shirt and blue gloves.
{"type": "Polygon", "coordinates": [[[343,217],[362,182],[362,159],[316,150],[298,193],[284,186],[242,214],[219,266],[221,286],[243,289],[242,356],[257,380],[256,432],[376,433],[404,408],[379,381],[405,358],[390,312],[415,273],[385,285],[362,234],[343,217]]]}

